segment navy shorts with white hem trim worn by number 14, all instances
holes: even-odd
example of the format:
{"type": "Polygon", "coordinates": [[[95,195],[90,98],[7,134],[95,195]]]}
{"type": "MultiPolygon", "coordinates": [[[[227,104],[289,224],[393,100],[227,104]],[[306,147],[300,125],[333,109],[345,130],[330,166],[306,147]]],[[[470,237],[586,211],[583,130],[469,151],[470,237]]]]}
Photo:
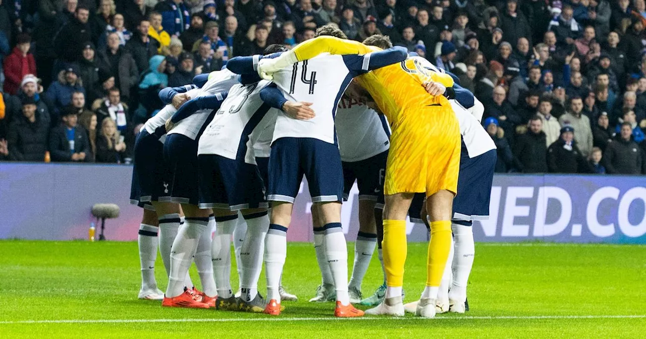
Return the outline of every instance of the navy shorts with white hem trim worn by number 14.
{"type": "Polygon", "coordinates": [[[312,202],[342,201],[343,168],[337,145],[314,138],[280,138],[271,145],[267,200],[293,203],[303,176],[312,202]]]}

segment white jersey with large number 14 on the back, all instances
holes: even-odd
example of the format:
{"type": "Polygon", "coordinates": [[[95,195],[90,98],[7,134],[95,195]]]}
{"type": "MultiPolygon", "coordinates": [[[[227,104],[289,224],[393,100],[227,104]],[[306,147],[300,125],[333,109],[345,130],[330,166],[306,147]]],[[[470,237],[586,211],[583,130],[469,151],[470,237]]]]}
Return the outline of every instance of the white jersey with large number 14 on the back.
{"type": "MultiPolygon", "coordinates": [[[[370,54],[361,58],[364,58],[359,63],[361,69],[368,70],[370,54]]],[[[311,108],[316,114],[312,119],[298,120],[280,112],[276,117],[273,140],[315,138],[336,143],[334,116],[337,103],[352,79],[350,68],[355,67],[346,64],[348,60],[348,56],[320,54],[273,74],[274,83],[287,100],[313,103],[311,108]]]]}

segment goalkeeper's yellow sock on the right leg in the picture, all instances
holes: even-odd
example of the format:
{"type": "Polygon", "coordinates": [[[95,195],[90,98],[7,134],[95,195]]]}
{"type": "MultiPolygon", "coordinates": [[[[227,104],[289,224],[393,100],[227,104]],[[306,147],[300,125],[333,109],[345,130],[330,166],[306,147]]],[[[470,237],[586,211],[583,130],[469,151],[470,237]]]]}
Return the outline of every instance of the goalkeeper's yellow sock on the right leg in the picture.
{"type": "MultiPolygon", "coordinates": [[[[385,225],[384,225],[385,233],[385,225]]],[[[385,240],[385,238],[384,238],[385,240]]],[[[426,286],[439,286],[451,251],[451,221],[431,222],[431,241],[426,257],[426,286]]]]}

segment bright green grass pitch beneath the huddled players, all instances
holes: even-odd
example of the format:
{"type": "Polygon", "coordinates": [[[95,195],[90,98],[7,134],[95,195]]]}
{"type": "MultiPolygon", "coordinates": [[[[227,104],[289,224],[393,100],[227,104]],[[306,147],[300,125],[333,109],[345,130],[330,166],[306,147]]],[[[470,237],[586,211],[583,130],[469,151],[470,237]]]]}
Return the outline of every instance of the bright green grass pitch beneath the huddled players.
{"type": "MultiPolygon", "coordinates": [[[[283,282],[299,300],[278,317],[138,300],[134,242],[10,240],[0,252],[0,338],[646,338],[645,246],[478,243],[471,311],[433,320],[339,320],[332,303],[308,303],[320,281],[308,243],[289,244],[283,282]]],[[[408,301],[425,263],[426,244],[409,244],[408,301]]],[[[163,290],[160,258],[156,267],[163,290]]],[[[379,283],[373,258],[364,294],[379,283]]],[[[264,276],[259,287],[264,294],[264,276]]]]}

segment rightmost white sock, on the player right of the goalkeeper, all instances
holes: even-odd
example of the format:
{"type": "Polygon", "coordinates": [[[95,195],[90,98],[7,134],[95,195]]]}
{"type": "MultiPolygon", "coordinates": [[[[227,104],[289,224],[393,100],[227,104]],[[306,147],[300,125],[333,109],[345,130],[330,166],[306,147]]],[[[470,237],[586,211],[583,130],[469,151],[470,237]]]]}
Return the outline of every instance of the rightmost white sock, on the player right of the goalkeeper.
{"type": "Polygon", "coordinates": [[[453,240],[455,240],[455,255],[453,256],[453,283],[449,294],[450,300],[464,302],[466,300],[466,284],[474,265],[475,243],[472,226],[451,225],[453,240]]]}

